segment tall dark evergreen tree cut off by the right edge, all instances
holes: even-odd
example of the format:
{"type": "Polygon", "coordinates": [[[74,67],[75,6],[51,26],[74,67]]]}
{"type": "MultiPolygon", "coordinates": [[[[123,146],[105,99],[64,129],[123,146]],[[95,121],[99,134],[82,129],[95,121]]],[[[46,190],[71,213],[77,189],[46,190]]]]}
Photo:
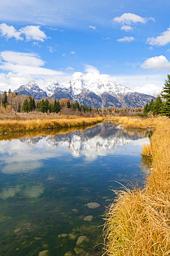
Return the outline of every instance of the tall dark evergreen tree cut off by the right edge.
{"type": "Polygon", "coordinates": [[[168,116],[170,118],[170,75],[167,75],[161,96],[166,100],[162,105],[161,114],[162,116],[168,116]]]}

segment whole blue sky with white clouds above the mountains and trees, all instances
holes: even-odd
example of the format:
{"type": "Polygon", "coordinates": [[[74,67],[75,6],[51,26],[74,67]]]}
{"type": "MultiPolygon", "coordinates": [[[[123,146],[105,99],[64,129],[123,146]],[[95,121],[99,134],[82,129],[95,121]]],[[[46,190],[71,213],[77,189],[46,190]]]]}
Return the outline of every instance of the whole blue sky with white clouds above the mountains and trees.
{"type": "Polygon", "coordinates": [[[90,73],[146,93],[170,73],[169,0],[6,0],[0,91],[90,73]]]}

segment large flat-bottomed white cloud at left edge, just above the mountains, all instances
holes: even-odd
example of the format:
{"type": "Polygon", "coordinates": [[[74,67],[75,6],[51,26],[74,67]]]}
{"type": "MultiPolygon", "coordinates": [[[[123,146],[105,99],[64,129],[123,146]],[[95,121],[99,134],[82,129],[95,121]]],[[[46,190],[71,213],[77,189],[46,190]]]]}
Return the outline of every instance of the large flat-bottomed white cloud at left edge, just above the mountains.
{"type": "Polygon", "coordinates": [[[0,68],[14,73],[25,75],[62,75],[61,71],[54,71],[49,68],[42,68],[45,64],[36,53],[17,53],[12,51],[2,51],[0,53],[0,68]]]}

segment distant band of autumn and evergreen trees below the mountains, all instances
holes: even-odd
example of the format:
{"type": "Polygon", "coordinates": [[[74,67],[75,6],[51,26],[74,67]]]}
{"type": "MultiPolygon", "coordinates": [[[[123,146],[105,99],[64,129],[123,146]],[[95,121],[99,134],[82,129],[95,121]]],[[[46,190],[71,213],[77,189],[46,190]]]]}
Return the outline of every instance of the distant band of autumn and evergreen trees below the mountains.
{"type": "Polygon", "coordinates": [[[11,112],[42,112],[42,113],[65,113],[76,114],[78,116],[85,116],[87,114],[118,114],[118,115],[130,115],[136,116],[136,114],[142,114],[143,107],[136,108],[118,108],[108,107],[107,109],[96,109],[87,107],[78,102],[74,102],[69,99],[47,99],[34,100],[34,97],[27,95],[19,95],[18,93],[12,93],[12,91],[4,91],[0,94],[0,111],[1,113],[11,112]]]}

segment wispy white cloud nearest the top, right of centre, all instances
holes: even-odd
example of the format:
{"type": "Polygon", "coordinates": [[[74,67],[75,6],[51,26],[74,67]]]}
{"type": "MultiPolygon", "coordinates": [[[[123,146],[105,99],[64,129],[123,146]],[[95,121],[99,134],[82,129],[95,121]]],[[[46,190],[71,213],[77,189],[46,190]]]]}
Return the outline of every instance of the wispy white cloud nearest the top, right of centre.
{"type": "MultiPolygon", "coordinates": [[[[153,19],[153,18],[149,18],[149,19],[153,19]]],[[[148,21],[148,19],[140,17],[139,15],[134,15],[134,13],[129,12],[129,13],[124,13],[119,17],[115,17],[113,21],[120,24],[130,25],[137,22],[145,24],[148,21]]]]}

